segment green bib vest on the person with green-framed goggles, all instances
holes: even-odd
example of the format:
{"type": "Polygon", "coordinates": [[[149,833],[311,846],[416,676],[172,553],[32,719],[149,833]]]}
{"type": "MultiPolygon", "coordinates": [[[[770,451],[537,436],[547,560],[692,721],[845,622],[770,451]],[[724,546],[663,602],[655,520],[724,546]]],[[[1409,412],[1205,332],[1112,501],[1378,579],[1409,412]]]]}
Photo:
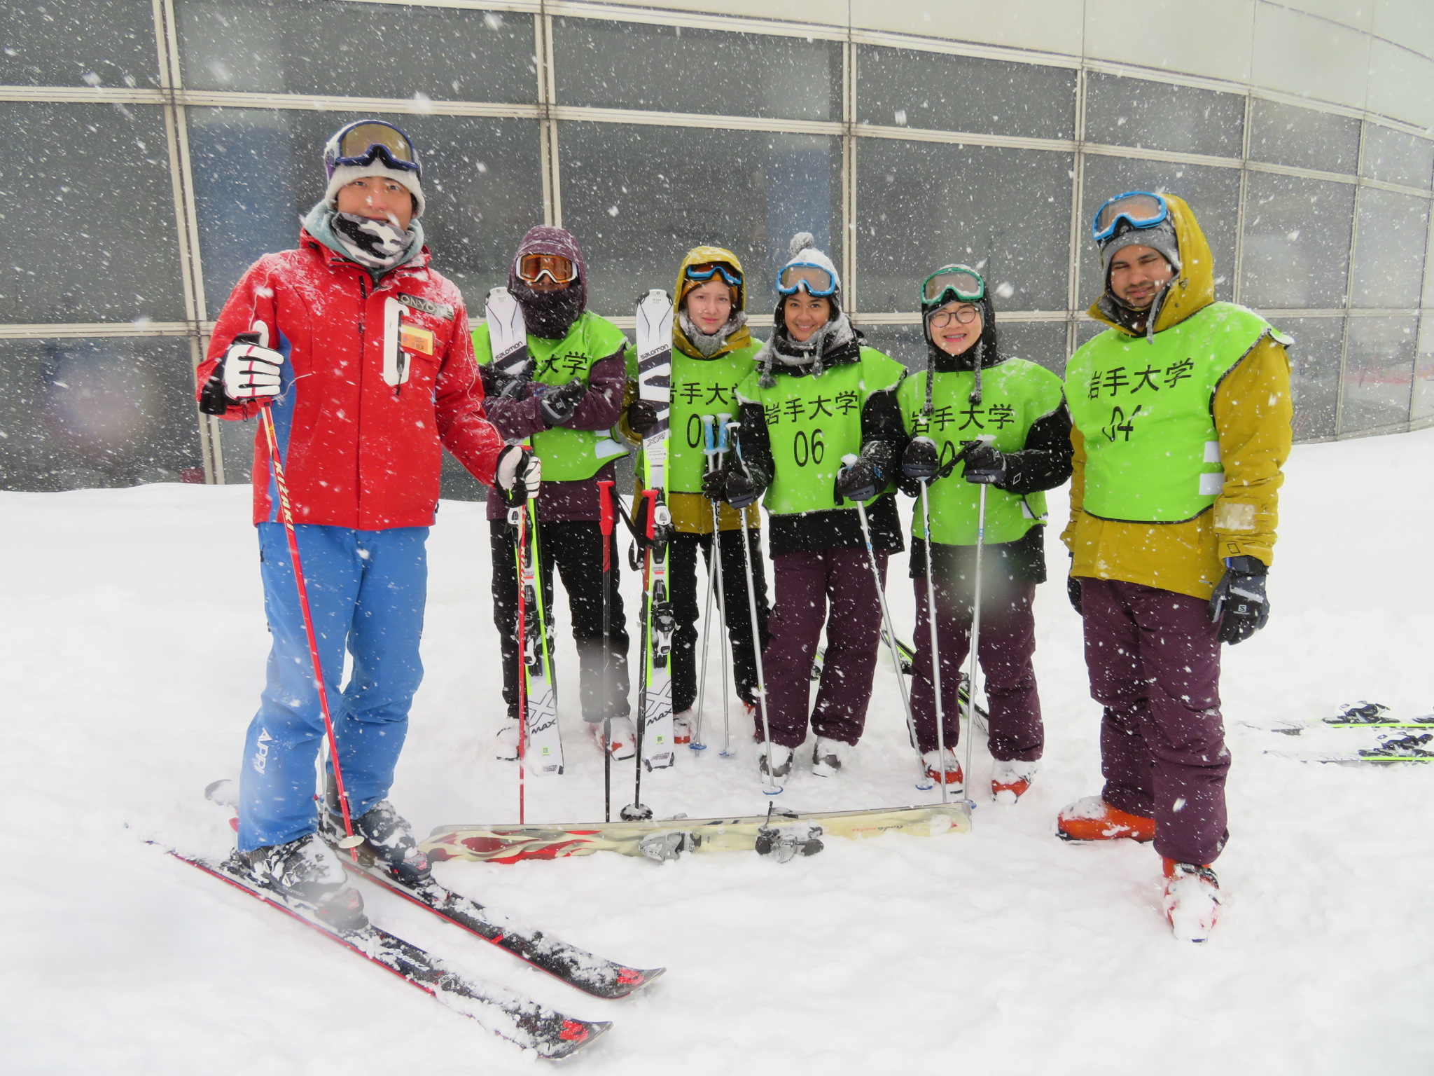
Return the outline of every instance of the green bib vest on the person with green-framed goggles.
{"type": "MultiPolygon", "coordinates": [[[[1007,359],[981,372],[981,403],[971,403],[975,374],[971,370],[938,373],[932,383],[931,415],[926,407],[926,373],[902,382],[896,390],[902,422],[913,438],[936,442],[941,461],[961,452],[967,440],[991,435],[1001,452],[1025,446],[1031,425],[1061,406],[1061,379],[1025,359],[1007,359]]],[[[931,534],[941,545],[975,545],[981,488],[961,476],[961,463],[944,479],[932,482],[931,534]]],[[[989,486],[987,491],[988,542],[1014,542],[1045,522],[1045,494],[1024,496],[989,486]]],[[[912,512],[912,537],[925,538],[921,502],[912,512]]]]}

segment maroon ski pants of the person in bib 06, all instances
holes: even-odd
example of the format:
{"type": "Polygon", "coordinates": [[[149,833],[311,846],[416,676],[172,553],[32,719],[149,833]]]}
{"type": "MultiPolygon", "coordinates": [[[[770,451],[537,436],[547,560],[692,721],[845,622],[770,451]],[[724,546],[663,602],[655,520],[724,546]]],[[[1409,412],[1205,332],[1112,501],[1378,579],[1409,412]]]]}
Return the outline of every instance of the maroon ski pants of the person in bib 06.
{"type": "MultiPolygon", "coordinates": [[[[876,562],[885,581],[886,554],[876,554],[876,562]]],[[[761,651],[761,671],[773,742],[796,749],[806,739],[812,661],[825,620],[826,656],[812,707],[812,732],[856,743],[866,727],[882,627],[866,549],[782,554],[771,558],[771,580],[776,603],[767,621],[770,638],[761,651]]],[[[757,739],[761,739],[760,709],[757,739]]]]}

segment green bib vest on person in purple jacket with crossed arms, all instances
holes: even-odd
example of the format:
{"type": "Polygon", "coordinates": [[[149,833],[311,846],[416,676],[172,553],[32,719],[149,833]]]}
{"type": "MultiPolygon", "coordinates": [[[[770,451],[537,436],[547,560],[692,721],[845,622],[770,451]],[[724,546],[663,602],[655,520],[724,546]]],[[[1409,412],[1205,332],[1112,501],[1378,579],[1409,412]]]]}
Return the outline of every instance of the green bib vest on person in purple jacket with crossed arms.
{"type": "MultiPolygon", "coordinates": [[[[574,377],[587,384],[592,364],[625,346],[627,337],[617,326],[584,311],[562,340],[541,340],[528,334],[528,354],[533,360],[532,379],[554,387],[566,384],[574,377]]],[[[486,324],[473,330],[473,356],[479,366],[493,362],[486,324]]],[[[581,482],[598,473],[609,459],[627,455],[627,449],[607,430],[554,426],[533,433],[531,440],[533,455],[542,461],[545,482],[581,482]]]]}

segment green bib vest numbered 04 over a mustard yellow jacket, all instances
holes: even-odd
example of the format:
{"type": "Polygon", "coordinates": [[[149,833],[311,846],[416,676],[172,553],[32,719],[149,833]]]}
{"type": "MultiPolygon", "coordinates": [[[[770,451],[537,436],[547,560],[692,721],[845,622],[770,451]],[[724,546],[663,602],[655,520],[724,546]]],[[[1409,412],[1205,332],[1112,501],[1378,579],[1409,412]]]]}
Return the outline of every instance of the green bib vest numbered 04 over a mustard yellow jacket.
{"type": "Polygon", "coordinates": [[[1174,524],[1225,485],[1215,389],[1265,336],[1265,318],[1212,303],[1144,336],[1106,330],[1071,356],[1065,400],[1086,439],[1084,509],[1101,519],[1174,524]]]}

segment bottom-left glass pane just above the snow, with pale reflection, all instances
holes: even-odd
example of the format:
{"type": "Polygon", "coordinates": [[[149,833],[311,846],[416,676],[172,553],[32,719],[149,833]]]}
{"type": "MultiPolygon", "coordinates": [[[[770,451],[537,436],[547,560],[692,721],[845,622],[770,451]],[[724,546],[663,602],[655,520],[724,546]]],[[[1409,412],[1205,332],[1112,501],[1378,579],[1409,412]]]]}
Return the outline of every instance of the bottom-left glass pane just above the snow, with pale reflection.
{"type": "Polygon", "coordinates": [[[0,489],[204,481],[188,340],[0,340],[0,489]]]}

